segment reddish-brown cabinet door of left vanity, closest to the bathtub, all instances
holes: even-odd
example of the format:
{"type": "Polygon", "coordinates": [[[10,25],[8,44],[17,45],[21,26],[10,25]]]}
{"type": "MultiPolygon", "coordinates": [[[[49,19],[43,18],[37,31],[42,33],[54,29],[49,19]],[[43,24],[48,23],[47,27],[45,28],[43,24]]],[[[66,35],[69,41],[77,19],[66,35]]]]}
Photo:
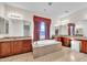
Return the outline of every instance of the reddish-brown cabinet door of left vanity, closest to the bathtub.
{"type": "Polygon", "coordinates": [[[32,51],[31,40],[23,40],[23,48],[22,52],[30,52],[32,51]]]}

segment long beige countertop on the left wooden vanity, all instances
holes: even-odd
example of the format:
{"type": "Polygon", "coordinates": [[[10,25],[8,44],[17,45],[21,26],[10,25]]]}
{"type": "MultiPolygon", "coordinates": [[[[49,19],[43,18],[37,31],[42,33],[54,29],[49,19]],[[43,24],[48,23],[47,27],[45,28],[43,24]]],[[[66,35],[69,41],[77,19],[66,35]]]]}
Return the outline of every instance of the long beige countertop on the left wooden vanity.
{"type": "Polygon", "coordinates": [[[12,37],[2,37],[0,39],[0,42],[6,42],[6,41],[18,41],[18,40],[32,40],[31,36],[12,36],[12,37]]]}

